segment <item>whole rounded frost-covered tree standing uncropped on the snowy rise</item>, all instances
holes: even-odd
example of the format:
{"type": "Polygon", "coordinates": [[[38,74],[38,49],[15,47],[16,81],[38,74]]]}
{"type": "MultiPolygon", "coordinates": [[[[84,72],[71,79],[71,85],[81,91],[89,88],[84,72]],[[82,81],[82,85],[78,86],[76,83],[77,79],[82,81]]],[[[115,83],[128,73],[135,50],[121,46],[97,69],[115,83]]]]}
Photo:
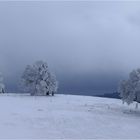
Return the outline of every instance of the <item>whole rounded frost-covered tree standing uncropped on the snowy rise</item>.
{"type": "Polygon", "coordinates": [[[43,61],[37,61],[32,66],[27,65],[22,75],[22,83],[31,95],[54,95],[58,88],[55,76],[43,61]]]}

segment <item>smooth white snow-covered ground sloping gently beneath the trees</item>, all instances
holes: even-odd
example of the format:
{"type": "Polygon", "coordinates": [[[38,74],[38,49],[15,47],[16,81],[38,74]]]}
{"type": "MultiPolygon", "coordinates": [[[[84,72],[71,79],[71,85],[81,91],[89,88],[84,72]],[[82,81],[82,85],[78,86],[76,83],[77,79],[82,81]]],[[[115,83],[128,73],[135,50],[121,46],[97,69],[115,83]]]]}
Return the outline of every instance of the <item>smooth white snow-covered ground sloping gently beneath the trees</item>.
{"type": "Polygon", "coordinates": [[[117,99],[5,94],[0,138],[140,139],[140,110],[117,99]]]}

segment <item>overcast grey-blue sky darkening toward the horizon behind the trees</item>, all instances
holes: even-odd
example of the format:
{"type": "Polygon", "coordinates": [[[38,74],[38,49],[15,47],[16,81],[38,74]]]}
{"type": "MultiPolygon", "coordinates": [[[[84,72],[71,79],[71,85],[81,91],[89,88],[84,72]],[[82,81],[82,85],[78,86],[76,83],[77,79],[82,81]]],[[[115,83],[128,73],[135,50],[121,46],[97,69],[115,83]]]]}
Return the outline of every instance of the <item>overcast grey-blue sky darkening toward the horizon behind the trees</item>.
{"type": "Polygon", "coordinates": [[[8,91],[36,60],[48,62],[61,92],[116,91],[140,67],[140,2],[0,2],[8,91]]]}

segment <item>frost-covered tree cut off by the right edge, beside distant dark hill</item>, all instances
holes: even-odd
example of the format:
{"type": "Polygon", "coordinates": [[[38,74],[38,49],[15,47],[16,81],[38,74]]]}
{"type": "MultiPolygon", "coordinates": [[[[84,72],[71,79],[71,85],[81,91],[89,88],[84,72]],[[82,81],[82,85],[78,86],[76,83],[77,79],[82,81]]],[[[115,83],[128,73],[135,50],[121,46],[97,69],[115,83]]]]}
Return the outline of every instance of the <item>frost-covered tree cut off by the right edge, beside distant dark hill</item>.
{"type": "Polygon", "coordinates": [[[133,70],[129,78],[120,83],[119,92],[123,102],[128,105],[133,101],[140,102],[140,69],[133,70]]]}

